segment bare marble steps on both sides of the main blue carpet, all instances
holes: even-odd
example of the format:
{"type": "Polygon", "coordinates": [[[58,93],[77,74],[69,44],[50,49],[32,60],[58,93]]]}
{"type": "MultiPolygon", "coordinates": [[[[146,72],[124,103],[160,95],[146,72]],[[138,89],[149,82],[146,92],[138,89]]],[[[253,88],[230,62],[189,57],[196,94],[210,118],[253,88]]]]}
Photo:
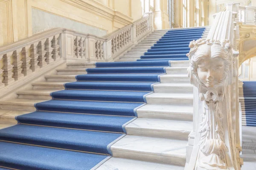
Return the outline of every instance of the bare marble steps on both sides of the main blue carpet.
{"type": "MultiPolygon", "coordinates": [[[[157,30],[131,48],[119,61],[134,61],[147,51],[167,30],[157,30]]],[[[205,31],[204,37],[209,29],[205,31]]],[[[137,109],[138,118],[125,126],[127,135],[111,146],[113,157],[97,170],[183,170],[186,145],[192,130],[193,86],[186,69],[189,61],[169,61],[171,67],[154,84],[154,93],[146,96],[147,104],[137,109]]],[[[0,128],[15,125],[15,116],[35,111],[34,104],[52,99],[50,93],[63,90],[64,83],[76,81],[94,63],[67,63],[55,74],[17,91],[15,99],[0,101],[0,128]]]]}

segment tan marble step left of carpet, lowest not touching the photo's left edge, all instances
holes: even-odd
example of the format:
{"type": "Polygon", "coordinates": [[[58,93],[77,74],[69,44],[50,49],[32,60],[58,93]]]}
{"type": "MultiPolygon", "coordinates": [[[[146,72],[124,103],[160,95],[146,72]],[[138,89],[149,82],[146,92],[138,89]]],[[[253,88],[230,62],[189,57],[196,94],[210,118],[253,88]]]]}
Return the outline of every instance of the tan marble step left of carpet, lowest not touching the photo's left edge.
{"type": "Polygon", "coordinates": [[[50,100],[52,97],[50,93],[55,90],[27,90],[27,91],[18,91],[16,94],[18,95],[18,99],[42,99],[42,100],[50,100]]]}

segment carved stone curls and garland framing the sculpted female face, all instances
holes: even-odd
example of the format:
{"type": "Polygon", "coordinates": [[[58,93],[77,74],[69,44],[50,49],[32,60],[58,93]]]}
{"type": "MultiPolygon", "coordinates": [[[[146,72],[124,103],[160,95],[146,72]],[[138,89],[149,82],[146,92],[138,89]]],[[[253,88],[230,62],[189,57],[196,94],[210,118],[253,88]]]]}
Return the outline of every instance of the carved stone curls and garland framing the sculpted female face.
{"type": "MultiPolygon", "coordinates": [[[[233,82],[233,52],[232,45],[229,40],[209,40],[209,39],[198,39],[193,40],[189,43],[190,51],[186,54],[189,57],[189,68],[188,76],[190,78],[190,83],[199,88],[199,86],[205,87],[203,83],[198,78],[197,68],[198,63],[203,60],[206,56],[201,54],[201,50],[204,48],[198,47],[202,45],[211,46],[211,56],[212,58],[219,58],[224,61],[224,74],[221,77],[219,85],[223,83],[232,84],[233,82]],[[227,80],[227,81],[226,81],[227,80]]],[[[205,49],[207,50],[207,49],[205,49]]]]}

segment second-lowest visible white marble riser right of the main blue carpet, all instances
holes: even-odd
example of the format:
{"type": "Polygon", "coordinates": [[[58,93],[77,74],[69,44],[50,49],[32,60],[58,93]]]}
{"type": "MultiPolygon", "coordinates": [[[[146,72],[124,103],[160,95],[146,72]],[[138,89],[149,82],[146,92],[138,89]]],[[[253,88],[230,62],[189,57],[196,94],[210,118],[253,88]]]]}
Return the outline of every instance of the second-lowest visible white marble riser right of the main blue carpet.
{"type": "MultiPolygon", "coordinates": [[[[129,125],[128,125],[129,126],[129,125]]],[[[133,128],[126,126],[125,129],[129,135],[138,136],[149,136],[149,137],[160,137],[169,139],[188,139],[191,130],[183,130],[183,132],[177,130],[158,130],[158,129],[143,129],[143,128],[133,128]]]]}

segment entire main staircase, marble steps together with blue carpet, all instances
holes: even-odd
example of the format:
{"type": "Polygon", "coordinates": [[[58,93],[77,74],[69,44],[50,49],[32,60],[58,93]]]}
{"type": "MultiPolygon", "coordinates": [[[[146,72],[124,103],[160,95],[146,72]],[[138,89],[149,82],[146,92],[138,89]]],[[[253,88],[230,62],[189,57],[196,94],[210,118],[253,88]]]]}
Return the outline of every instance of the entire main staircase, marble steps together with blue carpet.
{"type": "Polygon", "coordinates": [[[208,30],[154,31],[120,57],[137,61],[69,63],[0,101],[0,127],[19,122],[0,130],[0,167],[183,170],[193,113],[186,53],[208,30]]]}

